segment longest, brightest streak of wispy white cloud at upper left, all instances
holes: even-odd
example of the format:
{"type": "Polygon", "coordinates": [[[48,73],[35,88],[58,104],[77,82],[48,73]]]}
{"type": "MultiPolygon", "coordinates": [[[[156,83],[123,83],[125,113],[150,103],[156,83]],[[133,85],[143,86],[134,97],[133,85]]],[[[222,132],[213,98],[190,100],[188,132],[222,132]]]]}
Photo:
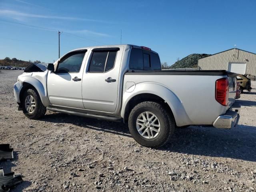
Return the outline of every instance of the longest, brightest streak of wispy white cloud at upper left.
{"type": "Polygon", "coordinates": [[[91,22],[102,22],[102,23],[111,23],[102,20],[86,19],[86,18],[77,18],[77,17],[63,17],[63,16],[50,16],[50,15],[40,15],[40,14],[30,14],[23,13],[14,10],[0,10],[0,15],[7,16],[13,19],[18,17],[26,18],[43,18],[43,19],[60,19],[60,20],[80,20],[80,21],[91,21],[91,22]]]}

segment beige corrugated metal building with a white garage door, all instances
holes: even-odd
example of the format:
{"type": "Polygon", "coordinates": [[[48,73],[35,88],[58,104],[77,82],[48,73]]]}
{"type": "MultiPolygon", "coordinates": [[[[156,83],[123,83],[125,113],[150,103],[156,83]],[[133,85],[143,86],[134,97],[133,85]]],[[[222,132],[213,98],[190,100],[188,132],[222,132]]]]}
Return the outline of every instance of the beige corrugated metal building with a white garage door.
{"type": "Polygon", "coordinates": [[[198,70],[227,70],[256,76],[256,54],[238,48],[198,60],[198,70]]]}

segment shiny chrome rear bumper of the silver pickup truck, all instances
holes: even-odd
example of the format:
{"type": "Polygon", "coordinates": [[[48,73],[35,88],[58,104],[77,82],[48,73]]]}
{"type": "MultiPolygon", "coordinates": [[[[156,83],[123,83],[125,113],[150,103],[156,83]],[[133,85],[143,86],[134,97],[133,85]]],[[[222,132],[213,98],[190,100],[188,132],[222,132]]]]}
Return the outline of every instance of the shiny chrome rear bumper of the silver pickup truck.
{"type": "Polygon", "coordinates": [[[216,118],[213,126],[216,128],[230,129],[238,124],[241,105],[234,103],[224,115],[216,118]]]}

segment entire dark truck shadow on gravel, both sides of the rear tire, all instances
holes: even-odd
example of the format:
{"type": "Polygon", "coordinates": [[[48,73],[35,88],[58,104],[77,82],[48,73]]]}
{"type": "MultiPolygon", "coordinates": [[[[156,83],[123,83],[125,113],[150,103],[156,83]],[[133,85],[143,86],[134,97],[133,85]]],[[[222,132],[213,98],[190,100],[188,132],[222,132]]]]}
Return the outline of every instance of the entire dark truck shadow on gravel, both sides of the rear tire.
{"type": "MultiPolygon", "coordinates": [[[[85,129],[132,138],[128,125],[122,122],[109,122],[60,113],[46,114],[41,120],[61,124],[71,123],[85,129]]],[[[158,150],[256,162],[255,148],[256,126],[239,125],[230,130],[190,126],[176,129],[171,142],[158,150]]]]}

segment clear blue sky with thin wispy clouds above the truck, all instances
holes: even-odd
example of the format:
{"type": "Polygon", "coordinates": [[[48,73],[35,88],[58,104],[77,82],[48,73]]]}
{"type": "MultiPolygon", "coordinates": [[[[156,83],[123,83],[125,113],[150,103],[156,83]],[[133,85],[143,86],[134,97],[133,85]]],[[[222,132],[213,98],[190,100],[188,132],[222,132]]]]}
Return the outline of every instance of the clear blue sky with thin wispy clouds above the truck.
{"type": "Polygon", "coordinates": [[[0,0],[0,58],[53,62],[58,30],[61,55],[120,44],[121,29],[122,44],[150,47],[169,65],[235,44],[256,52],[255,10],[255,0],[0,0]]]}

